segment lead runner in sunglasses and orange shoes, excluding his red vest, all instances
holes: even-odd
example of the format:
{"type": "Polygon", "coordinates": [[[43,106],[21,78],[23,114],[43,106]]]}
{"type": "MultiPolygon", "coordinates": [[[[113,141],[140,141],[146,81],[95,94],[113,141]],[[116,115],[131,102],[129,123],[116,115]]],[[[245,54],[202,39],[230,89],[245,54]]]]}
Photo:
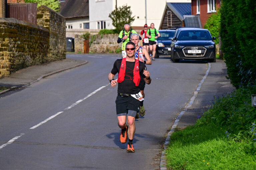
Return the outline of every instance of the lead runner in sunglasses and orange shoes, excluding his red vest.
{"type": "MultiPolygon", "coordinates": [[[[139,112],[140,101],[136,99],[137,96],[142,96],[140,94],[140,89],[135,85],[133,80],[133,70],[135,66],[135,44],[133,42],[127,42],[125,51],[126,57],[126,69],[124,80],[118,83],[117,98],[116,98],[116,114],[118,119],[118,126],[122,129],[120,134],[121,143],[127,142],[127,133],[129,136],[129,141],[127,145],[127,152],[135,152],[133,148],[133,137],[135,133],[135,116],[139,112]],[[131,96],[131,95],[133,95],[131,96]],[[127,117],[127,124],[126,124],[127,117]]],[[[111,87],[117,85],[117,81],[114,79],[116,73],[119,73],[121,67],[122,59],[117,59],[108,75],[108,80],[110,81],[111,87]]],[[[139,61],[139,74],[142,75],[144,81],[147,84],[151,83],[150,73],[146,70],[146,66],[143,62],[139,61]]]]}

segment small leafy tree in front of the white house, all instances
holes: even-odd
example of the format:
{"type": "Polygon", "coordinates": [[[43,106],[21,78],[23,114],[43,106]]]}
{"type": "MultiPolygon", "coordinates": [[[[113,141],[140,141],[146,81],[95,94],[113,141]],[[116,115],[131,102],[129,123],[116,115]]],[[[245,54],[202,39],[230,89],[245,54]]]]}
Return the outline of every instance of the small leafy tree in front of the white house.
{"type": "Polygon", "coordinates": [[[108,17],[112,19],[112,24],[118,32],[123,30],[125,24],[131,25],[135,18],[132,17],[131,7],[127,5],[113,10],[108,17]]]}

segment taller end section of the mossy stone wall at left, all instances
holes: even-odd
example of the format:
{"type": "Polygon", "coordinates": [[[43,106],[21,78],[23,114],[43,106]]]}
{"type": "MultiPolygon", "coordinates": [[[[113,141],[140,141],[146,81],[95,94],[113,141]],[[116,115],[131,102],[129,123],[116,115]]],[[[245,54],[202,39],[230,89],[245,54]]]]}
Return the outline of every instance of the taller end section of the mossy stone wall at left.
{"type": "Polygon", "coordinates": [[[37,9],[37,25],[50,31],[49,61],[66,58],[66,20],[48,8],[40,6],[37,9]]]}

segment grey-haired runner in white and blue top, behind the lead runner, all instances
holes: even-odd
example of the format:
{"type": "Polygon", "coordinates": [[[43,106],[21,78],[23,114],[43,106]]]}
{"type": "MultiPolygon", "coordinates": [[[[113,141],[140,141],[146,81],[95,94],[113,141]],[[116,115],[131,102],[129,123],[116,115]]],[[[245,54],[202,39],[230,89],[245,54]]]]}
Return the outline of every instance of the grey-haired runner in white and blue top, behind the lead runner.
{"type": "MultiPolygon", "coordinates": [[[[136,48],[135,48],[136,52],[135,52],[134,57],[136,59],[138,59],[139,49],[142,49],[142,54],[143,54],[144,59],[145,59],[142,62],[144,62],[145,64],[149,64],[150,65],[150,64],[152,64],[152,61],[151,61],[151,59],[149,57],[147,49],[142,47],[142,46],[139,46],[139,37],[140,36],[138,34],[131,34],[131,42],[135,43],[135,46],[136,46],[136,48]]],[[[141,94],[143,95],[143,98],[144,98],[145,97],[145,94],[144,94],[145,81],[142,78],[140,80],[141,81],[139,83],[139,88],[140,88],[140,92],[141,92],[141,94]]],[[[143,101],[140,102],[140,116],[144,116],[145,115],[145,109],[144,109],[143,101]]],[[[136,119],[139,118],[139,114],[138,113],[137,113],[135,118],[136,119]]]]}

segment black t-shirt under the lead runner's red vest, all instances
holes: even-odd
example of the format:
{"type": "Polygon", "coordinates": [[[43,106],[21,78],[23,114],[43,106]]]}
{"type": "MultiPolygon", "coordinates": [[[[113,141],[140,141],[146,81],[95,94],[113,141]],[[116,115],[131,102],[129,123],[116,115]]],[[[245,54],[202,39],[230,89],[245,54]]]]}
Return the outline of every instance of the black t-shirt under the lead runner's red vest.
{"type": "MultiPolygon", "coordinates": [[[[112,74],[119,73],[121,63],[122,63],[122,59],[117,59],[115,61],[114,66],[111,70],[112,74]]],[[[124,81],[122,83],[118,83],[118,89],[117,89],[118,93],[126,93],[126,94],[139,93],[140,91],[139,87],[135,86],[135,83],[133,82],[134,65],[135,65],[135,61],[134,62],[126,61],[124,81]]],[[[147,67],[143,62],[139,61],[140,78],[145,78],[145,75],[143,74],[143,70],[147,70],[147,67]]]]}

